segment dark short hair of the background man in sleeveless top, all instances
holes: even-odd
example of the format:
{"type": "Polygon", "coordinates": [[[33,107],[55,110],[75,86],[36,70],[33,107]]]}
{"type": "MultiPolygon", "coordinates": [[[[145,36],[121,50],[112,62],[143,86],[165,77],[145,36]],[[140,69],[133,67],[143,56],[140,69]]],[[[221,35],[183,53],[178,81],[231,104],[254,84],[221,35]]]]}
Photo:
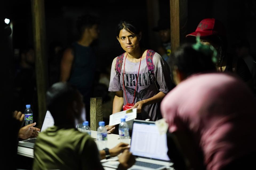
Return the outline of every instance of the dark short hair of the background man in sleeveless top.
{"type": "Polygon", "coordinates": [[[95,24],[99,24],[98,18],[88,14],[79,16],[76,21],[77,30],[80,35],[83,33],[85,28],[91,28],[95,24]]]}

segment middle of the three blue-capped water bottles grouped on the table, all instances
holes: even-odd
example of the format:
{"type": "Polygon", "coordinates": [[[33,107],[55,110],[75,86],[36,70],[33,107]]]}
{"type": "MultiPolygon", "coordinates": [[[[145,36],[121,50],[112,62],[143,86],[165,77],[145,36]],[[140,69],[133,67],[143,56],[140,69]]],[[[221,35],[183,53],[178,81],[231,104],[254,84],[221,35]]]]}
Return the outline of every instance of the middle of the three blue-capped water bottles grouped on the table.
{"type": "Polygon", "coordinates": [[[105,122],[99,122],[97,129],[97,139],[99,150],[103,150],[107,147],[107,129],[105,128],[105,122]]]}

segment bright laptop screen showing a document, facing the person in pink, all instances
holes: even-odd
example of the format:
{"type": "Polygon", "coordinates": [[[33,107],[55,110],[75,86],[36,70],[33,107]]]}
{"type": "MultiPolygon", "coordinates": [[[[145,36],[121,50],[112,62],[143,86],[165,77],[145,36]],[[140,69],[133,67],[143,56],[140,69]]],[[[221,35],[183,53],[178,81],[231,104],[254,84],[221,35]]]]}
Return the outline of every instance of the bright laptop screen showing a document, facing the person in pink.
{"type": "Polygon", "coordinates": [[[159,134],[155,124],[133,124],[130,152],[136,156],[169,161],[166,134],[159,134]]]}

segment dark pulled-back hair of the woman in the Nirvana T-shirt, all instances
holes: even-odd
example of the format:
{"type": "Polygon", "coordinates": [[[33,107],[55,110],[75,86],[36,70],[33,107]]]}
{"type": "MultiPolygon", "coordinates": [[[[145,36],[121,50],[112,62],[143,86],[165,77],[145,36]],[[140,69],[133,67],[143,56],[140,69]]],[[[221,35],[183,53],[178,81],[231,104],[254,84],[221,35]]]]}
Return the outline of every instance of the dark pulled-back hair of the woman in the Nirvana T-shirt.
{"type": "Polygon", "coordinates": [[[141,32],[141,28],[139,27],[139,25],[132,20],[123,19],[119,22],[119,24],[117,25],[117,37],[119,37],[121,29],[125,29],[133,35],[138,35],[141,32]]]}

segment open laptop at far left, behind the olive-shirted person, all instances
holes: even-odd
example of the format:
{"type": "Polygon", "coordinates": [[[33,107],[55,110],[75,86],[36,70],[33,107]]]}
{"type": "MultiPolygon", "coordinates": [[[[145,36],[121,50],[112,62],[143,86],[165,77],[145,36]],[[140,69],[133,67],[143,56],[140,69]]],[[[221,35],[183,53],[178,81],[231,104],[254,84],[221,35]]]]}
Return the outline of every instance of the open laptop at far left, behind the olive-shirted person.
{"type": "MultiPolygon", "coordinates": [[[[45,119],[43,120],[43,125],[41,127],[41,132],[47,129],[50,126],[54,125],[54,119],[51,116],[50,111],[47,111],[45,114],[45,119]]],[[[31,139],[25,139],[23,141],[19,141],[18,146],[22,147],[29,147],[29,148],[34,148],[35,145],[35,140],[37,138],[31,138],[31,139]]]]}

